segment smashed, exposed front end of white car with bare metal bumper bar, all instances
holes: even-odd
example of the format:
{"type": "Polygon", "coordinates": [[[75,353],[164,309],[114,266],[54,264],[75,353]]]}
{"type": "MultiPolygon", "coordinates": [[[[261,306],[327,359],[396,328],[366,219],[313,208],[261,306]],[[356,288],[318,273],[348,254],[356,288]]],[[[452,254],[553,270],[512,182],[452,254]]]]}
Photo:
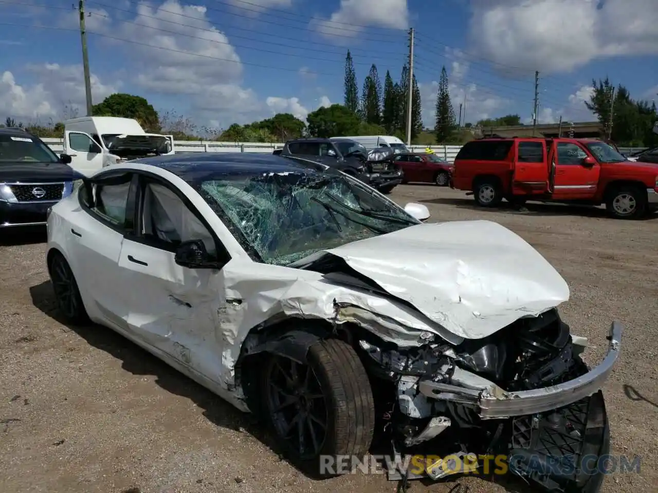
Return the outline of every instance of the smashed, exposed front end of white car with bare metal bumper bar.
{"type": "MultiPolygon", "coordinates": [[[[444,454],[514,456],[513,472],[563,491],[599,480],[579,475],[578,467],[561,477],[536,475],[530,463],[607,453],[600,388],[619,354],[620,335],[613,323],[609,352],[592,370],[580,359],[586,340],[570,335],[557,310],[457,346],[396,348],[359,340],[359,348],[371,378],[380,382],[373,387],[388,388],[388,396],[379,394],[396,453],[423,442],[430,446],[442,434],[431,443],[451,444],[444,454]]],[[[395,471],[389,476],[399,479],[395,471]]]]}

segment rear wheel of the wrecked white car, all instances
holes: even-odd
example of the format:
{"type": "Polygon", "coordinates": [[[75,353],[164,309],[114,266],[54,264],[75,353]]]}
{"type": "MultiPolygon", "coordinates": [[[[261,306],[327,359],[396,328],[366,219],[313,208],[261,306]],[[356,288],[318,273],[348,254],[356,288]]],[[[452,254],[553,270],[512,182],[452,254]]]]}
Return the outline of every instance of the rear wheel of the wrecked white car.
{"type": "Polygon", "coordinates": [[[56,252],[53,254],[48,263],[48,273],[53,283],[57,308],[59,308],[66,321],[73,325],[88,323],[89,316],[84,308],[78,283],[68,262],[61,253],[56,252]]]}

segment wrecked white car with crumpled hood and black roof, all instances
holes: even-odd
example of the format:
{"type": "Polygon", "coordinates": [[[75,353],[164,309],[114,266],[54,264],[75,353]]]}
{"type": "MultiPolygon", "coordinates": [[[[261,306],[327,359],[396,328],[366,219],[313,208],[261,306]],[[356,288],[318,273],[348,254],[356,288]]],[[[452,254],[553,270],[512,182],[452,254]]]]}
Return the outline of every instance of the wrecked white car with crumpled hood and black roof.
{"type": "Polygon", "coordinates": [[[496,223],[428,216],[318,164],[174,154],[116,164],[55,205],[47,264],[72,323],[262,413],[299,467],[383,438],[395,454],[506,454],[547,490],[596,492],[579,461],[609,450],[600,388],[619,323],[588,369],[555,308],[569,288],[536,250],[496,223]],[[555,461],[575,467],[542,469],[555,461]]]}

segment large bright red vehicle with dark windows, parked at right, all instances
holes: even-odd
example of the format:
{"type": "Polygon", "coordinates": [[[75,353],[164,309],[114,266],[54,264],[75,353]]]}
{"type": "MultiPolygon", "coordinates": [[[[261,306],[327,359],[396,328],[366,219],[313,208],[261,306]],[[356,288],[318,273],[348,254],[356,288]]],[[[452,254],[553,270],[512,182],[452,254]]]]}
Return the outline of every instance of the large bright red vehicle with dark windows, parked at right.
{"type": "Polygon", "coordinates": [[[483,207],[503,198],[605,204],[614,218],[631,219],[658,205],[658,164],[629,161],[595,139],[486,138],[460,149],[451,187],[483,207]]]}

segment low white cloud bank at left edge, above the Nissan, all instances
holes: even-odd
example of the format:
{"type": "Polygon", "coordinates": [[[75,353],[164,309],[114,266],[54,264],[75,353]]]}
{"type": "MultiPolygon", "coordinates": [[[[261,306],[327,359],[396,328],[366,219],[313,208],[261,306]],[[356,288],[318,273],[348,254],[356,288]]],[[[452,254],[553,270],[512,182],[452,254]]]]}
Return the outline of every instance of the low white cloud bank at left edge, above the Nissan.
{"type": "MultiPolygon", "coordinates": [[[[25,123],[46,124],[74,114],[86,113],[86,96],[82,65],[47,63],[27,67],[38,82],[18,84],[12,72],[0,79],[0,113],[25,123]]],[[[103,83],[91,74],[92,101],[99,103],[115,93],[122,83],[103,83]]]]}

